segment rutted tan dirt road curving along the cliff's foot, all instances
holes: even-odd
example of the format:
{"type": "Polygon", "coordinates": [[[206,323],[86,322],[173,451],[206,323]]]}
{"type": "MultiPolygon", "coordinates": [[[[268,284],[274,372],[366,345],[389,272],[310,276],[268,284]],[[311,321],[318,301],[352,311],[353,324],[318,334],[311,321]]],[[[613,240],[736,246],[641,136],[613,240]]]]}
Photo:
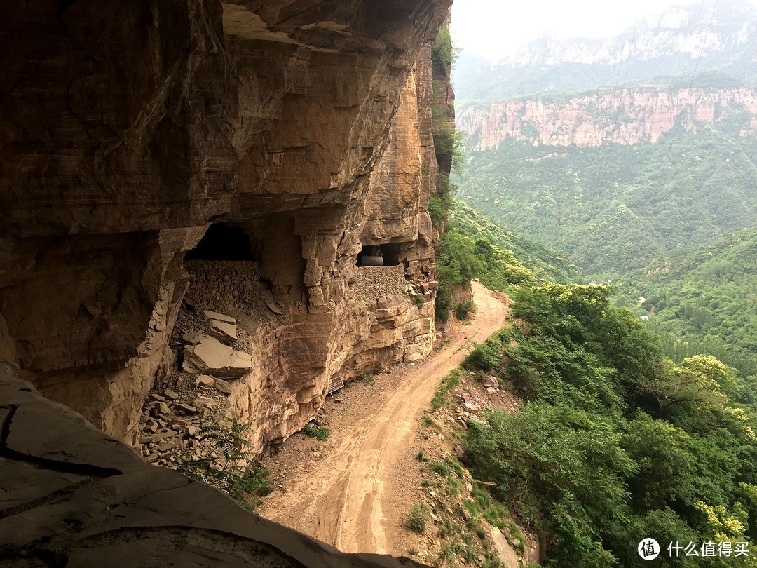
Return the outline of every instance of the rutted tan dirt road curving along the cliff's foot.
{"type": "Polygon", "coordinates": [[[473,293],[477,313],[472,324],[457,329],[440,351],[404,366],[390,389],[376,392],[372,400],[366,395],[332,447],[293,466],[285,492],[271,495],[260,507],[263,517],[344,552],[398,554],[391,532],[403,522],[397,518],[407,501],[399,466],[412,460],[407,448],[418,434],[423,411],[441,378],[462,363],[472,343],[504,324],[506,305],[476,282],[473,293]]]}

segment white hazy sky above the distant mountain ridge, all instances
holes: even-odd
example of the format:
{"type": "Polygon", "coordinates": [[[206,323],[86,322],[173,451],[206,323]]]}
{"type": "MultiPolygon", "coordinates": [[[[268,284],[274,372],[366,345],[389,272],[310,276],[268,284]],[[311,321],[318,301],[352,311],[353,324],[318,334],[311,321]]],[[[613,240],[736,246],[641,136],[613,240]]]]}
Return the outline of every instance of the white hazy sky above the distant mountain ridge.
{"type": "MultiPolygon", "coordinates": [[[[757,0],[743,0],[757,4],[757,0]]],[[[459,46],[497,61],[549,31],[561,38],[613,36],[672,5],[696,0],[454,0],[452,29],[459,46]]]]}

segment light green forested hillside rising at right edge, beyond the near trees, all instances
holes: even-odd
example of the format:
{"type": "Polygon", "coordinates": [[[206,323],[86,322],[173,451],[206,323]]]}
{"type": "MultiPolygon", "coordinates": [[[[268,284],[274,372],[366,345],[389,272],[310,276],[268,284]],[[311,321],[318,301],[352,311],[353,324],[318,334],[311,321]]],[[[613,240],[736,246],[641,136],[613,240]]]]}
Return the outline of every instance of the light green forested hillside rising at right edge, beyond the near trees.
{"type": "Polygon", "coordinates": [[[623,276],[619,289],[670,357],[712,354],[757,376],[757,228],[675,251],[623,276]]]}

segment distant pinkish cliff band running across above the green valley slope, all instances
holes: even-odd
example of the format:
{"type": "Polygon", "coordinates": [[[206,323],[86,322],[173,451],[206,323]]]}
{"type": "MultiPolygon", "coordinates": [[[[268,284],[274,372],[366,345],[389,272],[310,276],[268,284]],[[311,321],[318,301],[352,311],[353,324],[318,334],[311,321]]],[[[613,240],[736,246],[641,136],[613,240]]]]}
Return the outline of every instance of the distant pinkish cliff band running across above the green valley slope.
{"type": "Polygon", "coordinates": [[[691,130],[697,120],[716,122],[746,114],[741,136],[757,133],[754,89],[624,89],[618,93],[549,101],[497,102],[488,108],[469,106],[457,115],[457,126],[472,135],[473,150],[497,148],[511,138],[550,146],[633,145],[657,142],[678,128],[691,130]]]}

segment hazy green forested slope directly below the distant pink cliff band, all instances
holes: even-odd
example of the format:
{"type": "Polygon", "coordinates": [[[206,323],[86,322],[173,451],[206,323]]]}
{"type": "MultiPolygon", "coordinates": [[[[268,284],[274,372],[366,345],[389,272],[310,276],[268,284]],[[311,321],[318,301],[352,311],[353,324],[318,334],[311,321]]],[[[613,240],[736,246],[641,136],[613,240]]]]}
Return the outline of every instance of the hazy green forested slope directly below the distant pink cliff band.
{"type": "Polygon", "coordinates": [[[612,278],[757,224],[754,140],[709,124],[654,145],[505,141],[467,155],[459,198],[587,275],[612,278]]]}

